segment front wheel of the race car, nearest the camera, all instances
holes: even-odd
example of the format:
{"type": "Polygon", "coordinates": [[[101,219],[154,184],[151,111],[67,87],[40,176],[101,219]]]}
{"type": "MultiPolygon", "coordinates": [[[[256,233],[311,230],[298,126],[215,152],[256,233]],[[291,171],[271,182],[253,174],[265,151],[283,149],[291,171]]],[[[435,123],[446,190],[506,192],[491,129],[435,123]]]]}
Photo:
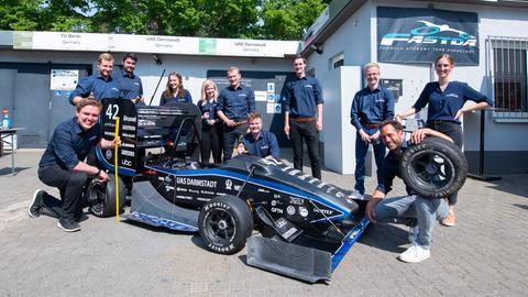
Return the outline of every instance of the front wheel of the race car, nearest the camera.
{"type": "Polygon", "coordinates": [[[234,254],[245,246],[253,231],[253,216],[241,198],[219,196],[201,208],[198,228],[207,249],[234,254]]]}

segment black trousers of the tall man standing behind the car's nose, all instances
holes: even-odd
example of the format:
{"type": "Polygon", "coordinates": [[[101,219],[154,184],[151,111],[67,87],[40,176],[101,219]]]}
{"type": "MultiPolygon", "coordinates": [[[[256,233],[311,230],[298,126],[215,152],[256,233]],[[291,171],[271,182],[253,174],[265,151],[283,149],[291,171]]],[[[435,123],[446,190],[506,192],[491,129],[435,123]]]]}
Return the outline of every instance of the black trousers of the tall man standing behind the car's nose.
{"type": "Polygon", "coordinates": [[[319,157],[319,132],[317,132],[316,121],[294,122],[289,124],[289,138],[294,146],[294,167],[302,170],[302,141],[308,147],[310,157],[311,175],[321,179],[321,161],[319,157]]]}

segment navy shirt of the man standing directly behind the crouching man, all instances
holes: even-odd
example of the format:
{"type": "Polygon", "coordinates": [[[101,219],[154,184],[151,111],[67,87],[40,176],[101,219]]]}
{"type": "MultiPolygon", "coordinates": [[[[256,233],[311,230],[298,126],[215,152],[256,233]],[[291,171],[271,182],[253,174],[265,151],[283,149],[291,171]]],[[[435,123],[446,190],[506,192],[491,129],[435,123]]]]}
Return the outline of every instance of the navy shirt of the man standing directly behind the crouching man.
{"type": "Polygon", "coordinates": [[[256,110],[255,94],[252,88],[229,86],[218,96],[217,111],[223,111],[230,120],[245,120],[248,114],[256,110]]]}

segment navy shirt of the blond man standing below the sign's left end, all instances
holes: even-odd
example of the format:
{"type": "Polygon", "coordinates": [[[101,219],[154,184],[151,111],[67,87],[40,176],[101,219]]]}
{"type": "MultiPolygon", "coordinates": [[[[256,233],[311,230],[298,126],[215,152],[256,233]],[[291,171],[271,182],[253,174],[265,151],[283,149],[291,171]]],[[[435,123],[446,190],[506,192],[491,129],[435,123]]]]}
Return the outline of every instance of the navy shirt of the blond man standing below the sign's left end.
{"type": "Polygon", "coordinates": [[[361,130],[362,123],[381,123],[394,118],[393,94],[380,86],[371,91],[369,87],[355,94],[350,109],[351,123],[361,130]]]}

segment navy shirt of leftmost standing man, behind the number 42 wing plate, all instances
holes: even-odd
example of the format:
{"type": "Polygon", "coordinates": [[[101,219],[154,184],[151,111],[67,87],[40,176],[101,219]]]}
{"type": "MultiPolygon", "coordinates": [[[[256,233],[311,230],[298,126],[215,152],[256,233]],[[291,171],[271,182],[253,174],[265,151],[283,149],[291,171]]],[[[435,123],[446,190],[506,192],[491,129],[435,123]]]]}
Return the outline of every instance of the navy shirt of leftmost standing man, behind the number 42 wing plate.
{"type": "Polygon", "coordinates": [[[119,82],[112,76],[108,80],[101,76],[100,73],[90,75],[79,81],[75,90],[69,96],[69,103],[74,105],[74,98],[77,96],[88,97],[90,92],[94,94],[97,100],[102,100],[105,98],[120,98],[121,90],[119,88],[119,82]]]}

